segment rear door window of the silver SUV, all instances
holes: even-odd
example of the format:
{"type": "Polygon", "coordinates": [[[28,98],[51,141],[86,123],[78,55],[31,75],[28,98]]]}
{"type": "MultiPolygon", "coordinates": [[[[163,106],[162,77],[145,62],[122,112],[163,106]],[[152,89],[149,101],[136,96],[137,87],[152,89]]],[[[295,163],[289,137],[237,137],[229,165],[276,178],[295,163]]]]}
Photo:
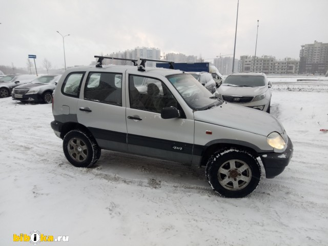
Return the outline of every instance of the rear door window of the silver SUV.
{"type": "Polygon", "coordinates": [[[122,74],[90,72],[84,91],[86,100],[122,106],[122,74]]]}

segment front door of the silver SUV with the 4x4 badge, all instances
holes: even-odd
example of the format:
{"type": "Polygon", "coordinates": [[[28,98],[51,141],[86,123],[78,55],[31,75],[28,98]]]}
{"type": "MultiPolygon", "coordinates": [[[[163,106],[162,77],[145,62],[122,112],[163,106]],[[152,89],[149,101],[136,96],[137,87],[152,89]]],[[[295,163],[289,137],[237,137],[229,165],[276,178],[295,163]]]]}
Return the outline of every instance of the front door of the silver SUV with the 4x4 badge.
{"type": "Polygon", "coordinates": [[[178,101],[163,81],[133,74],[126,74],[126,79],[129,152],[190,163],[194,143],[194,120],[183,116],[178,101]],[[138,91],[140,80],[144,81],[147,89],[138,91]],[[161,109],[171,106],[179,109],[182,117],[162,119],[161,109]]]}

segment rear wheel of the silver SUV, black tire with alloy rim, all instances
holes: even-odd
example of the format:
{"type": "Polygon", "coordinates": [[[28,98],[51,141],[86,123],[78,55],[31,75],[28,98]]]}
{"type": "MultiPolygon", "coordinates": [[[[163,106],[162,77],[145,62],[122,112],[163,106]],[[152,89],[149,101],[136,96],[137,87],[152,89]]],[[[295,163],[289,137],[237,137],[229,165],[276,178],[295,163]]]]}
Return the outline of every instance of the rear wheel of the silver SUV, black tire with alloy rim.
{"type": "Polygon", "coordinates": [[[78,168],[92,167],[101,154],[94,137],[80,130],[72,130],[65,135],[63,150],[67,160],[78,168]]]}

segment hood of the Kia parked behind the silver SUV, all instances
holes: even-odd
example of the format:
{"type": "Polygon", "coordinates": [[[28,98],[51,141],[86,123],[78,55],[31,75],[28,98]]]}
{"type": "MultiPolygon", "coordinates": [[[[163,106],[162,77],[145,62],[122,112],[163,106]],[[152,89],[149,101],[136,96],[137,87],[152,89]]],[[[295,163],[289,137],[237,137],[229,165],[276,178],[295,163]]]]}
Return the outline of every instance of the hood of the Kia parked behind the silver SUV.
{"type": "Polygon", "coordinates": [[[234,95],[234,96],[257,96],[267,91],[267,87],[238,87],[238,86],[225,86],[221,85],[217,92],[221,95],[234,95]]]}

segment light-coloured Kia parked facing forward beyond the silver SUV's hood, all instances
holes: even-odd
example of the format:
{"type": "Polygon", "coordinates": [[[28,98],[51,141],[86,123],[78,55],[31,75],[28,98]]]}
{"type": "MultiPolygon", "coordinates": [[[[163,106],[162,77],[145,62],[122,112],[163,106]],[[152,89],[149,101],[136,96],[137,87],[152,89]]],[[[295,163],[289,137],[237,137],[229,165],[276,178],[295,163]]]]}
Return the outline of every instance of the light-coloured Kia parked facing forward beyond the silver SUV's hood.
{"type": "Polygon", "coordinates": [[[228,103],[270,113],[272,83],[264,73],[233,73],[214,93],[228,103]]]}

